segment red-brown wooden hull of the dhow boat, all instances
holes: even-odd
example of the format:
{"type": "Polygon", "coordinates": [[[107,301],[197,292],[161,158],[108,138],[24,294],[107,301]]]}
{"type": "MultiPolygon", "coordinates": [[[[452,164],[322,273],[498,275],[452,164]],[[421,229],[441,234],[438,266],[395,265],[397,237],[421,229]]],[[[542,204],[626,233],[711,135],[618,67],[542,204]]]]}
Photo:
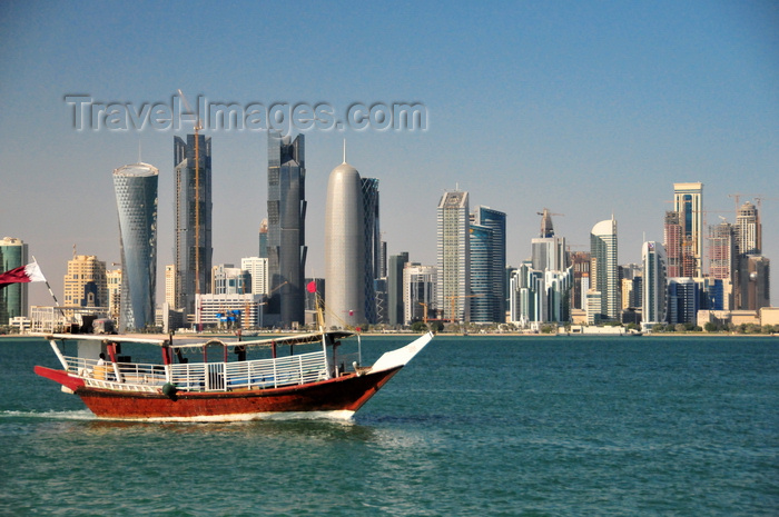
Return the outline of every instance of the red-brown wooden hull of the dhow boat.
{"type": "Polygon", "coordinates": [[[354,374],[321,382],[263,390],[218,392],[180,391],[170,398],[98,389],[85,386],[66,372],[36,367],[36,372],[72,389],[99,418],[120,420],[224,421],[262,419],[276,414],[343,411],[351,416],[400,369],[354,374]],[[69,382],[67,379],[71,379],[69,382]],[[78,382],[73,382],[73,380],[78,382]]]}

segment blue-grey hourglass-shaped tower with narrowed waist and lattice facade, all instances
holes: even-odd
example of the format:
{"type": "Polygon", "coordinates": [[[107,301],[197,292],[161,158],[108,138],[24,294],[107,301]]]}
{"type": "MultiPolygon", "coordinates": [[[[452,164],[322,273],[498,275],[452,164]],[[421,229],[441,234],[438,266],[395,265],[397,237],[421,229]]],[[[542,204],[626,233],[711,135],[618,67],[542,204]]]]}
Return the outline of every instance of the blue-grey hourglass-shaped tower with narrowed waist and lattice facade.
{"type": "Polygon", "coordinates": [[[114,171],[122,270],[119,301],[122,332],[155,325],[158,178],[157,168],[148,163],[114,171]]]}

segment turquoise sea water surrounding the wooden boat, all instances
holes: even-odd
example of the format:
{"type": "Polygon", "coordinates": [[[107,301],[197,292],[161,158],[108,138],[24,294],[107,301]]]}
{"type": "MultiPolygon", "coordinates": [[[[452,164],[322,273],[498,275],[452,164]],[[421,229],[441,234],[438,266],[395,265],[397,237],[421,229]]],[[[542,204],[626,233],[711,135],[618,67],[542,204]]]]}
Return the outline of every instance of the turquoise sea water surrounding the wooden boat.
{"type": "Polygon", "coordinates": [[[346,424],[99,421],[36,364],[0,339],[2,515],[779,514],[777,338],[437,337],[346,424]]]}

